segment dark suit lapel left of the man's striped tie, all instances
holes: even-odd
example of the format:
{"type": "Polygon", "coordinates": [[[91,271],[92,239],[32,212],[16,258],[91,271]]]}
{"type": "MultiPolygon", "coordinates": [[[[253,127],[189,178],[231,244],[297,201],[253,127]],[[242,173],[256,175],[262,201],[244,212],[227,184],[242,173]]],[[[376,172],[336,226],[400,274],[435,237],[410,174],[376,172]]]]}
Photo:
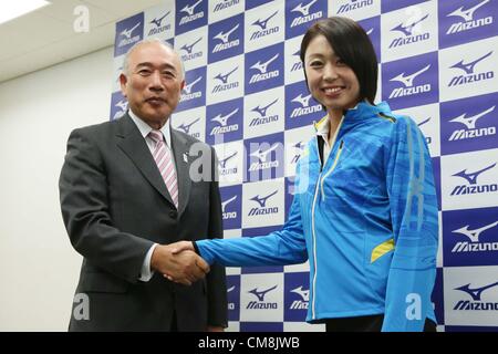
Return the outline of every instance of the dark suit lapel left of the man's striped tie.
{"type": "Polygon", "coordinates": [[[117,146],[129,157],[151,185],[174,206],[156,162],[135,123],[128,114],[125,114],[117,124],[120,124],[116,134],[117,146]]]}

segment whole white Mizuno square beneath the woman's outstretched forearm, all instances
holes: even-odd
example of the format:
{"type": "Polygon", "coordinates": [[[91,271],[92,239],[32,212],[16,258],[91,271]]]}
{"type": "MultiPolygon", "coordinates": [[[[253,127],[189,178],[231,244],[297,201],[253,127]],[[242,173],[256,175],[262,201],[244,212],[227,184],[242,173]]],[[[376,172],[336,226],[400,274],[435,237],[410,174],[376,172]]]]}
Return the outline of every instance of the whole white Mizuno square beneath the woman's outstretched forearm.
{"type": "Polygon", "coordinates": [[[245,274],[240,280],[240,321],[283,322],[283,274],[245,274]]]}

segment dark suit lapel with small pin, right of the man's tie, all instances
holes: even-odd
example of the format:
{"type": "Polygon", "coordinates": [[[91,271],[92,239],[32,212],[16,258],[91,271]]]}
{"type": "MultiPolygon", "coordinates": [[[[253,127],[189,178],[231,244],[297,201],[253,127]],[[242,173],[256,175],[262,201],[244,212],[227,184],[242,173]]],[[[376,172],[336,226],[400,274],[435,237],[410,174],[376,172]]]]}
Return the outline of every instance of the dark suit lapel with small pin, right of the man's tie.
{"type": "Polygon", "coordinates": [[[191,179],[189,175],[190,170],[190,156],[188,154],[188,142],[185,137],[176,132],[172,132],[172,147],[176,163],[176,177],[178,181],[178,217],[185,211],[190,196],[191,179]]]}

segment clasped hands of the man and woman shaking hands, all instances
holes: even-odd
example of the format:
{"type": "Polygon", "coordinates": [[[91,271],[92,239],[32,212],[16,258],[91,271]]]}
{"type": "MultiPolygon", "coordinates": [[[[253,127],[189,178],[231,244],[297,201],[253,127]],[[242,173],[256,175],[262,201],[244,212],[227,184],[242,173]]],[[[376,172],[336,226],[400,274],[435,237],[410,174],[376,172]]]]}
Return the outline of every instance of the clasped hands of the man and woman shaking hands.
{"type": "Polygon", "coordinates": [[[190,241],[157,244],[151,258],[151,268],[184,285],[191,285],[209,272],[209,264],[195,252],[190,241]]]}

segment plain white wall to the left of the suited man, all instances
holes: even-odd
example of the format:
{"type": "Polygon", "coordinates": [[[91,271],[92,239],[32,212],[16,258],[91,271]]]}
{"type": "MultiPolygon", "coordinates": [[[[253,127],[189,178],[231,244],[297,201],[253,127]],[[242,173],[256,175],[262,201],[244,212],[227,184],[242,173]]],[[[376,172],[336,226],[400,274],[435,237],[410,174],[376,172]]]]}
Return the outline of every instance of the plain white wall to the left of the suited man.
{"type": "Polygon", "coordinates": [[[108,117],[112,48],[0,84],[0,331],[66,331],[81,257],[62,223],[70,132],[108,117]]]}

